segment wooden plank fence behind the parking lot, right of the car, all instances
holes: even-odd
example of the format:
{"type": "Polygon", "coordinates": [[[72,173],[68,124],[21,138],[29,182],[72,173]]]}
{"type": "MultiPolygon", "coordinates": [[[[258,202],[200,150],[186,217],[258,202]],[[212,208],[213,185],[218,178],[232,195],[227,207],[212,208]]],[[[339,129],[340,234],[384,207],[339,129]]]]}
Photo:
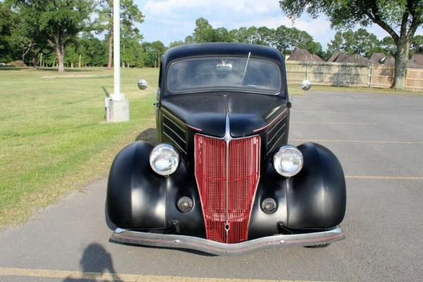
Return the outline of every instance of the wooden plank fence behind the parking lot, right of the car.
{"type": "MultiPolygon", "coordinates": [[[[390,88],[394,68],[361,63],[286,61],[289,84],[311,80],[314,85],[390,88]]],[[[407,68],[405,89],[423,91],[423,69],[407,68]]]]}

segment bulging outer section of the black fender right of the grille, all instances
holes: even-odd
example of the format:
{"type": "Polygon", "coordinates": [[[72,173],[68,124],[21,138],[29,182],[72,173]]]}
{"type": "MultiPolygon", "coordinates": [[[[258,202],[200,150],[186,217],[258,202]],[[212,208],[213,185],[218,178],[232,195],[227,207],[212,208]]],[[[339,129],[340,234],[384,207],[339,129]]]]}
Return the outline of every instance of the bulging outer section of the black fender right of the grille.
{"type": "Polygon", "coordinates": [[[302,170],[286,182],[288,228],[331,228],[343,221],[347,201],[345,176],[336,156],[308,142],[298,146],[302,170]]]}

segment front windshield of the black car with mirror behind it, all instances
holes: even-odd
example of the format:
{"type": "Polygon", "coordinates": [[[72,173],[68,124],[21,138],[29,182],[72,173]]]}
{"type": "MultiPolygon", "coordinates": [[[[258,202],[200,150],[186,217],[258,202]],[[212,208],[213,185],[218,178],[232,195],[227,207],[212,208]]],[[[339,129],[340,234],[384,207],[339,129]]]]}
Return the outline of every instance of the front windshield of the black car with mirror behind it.
{"type": "Polygon", "coordinates": [[[167,73],[171,92],[246,90],[277,93],[281,90],[278,65],[264,59],[213,57],[171,63],[167,73]]]}

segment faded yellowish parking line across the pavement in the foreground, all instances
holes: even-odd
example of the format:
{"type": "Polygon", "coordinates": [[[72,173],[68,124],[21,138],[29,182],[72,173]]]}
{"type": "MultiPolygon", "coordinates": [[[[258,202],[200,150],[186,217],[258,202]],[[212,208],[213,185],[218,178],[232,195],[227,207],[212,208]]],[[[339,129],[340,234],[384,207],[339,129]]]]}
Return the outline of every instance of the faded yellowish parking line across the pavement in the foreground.
{"type": "MultiPolygon", "coordinates": [[[[108,274],[99,272],[82,272],[50,269],[21,269],[0,267],[0,276],[59,278],[59,279],[86,279],[90,281],[127,281],[127,282],[312,282],[300,280],[262,280],[237,278],[200,278],[179,276],[157,276],[140,274],[108,274]]],[[[1,280],[1,279],[0,279],[1,280]]],[[[314,281],[316,282],[316,281],[314,281]]]]}

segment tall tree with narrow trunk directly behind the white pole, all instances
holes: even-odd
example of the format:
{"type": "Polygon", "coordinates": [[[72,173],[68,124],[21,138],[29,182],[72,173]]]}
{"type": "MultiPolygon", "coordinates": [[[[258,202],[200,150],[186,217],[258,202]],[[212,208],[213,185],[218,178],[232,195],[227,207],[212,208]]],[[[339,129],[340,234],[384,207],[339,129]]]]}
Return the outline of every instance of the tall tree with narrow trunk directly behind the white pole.
{"type": "MultiPolygon", "coordinates": [[[[106,38],[109,42],[109,59],[107,68],[111,68],[113,61],[113,0],[97,0],[98,18],[94,22],[94,30],[97,33],[107,31],[106,38]]],[[[135,28],[135,23],[143,23],[144,15],[140,9],[133,3],[133,0],[121,0],[121,30],[122,35],[133,37],[139,35],[139,30],[135,28]]]]}

